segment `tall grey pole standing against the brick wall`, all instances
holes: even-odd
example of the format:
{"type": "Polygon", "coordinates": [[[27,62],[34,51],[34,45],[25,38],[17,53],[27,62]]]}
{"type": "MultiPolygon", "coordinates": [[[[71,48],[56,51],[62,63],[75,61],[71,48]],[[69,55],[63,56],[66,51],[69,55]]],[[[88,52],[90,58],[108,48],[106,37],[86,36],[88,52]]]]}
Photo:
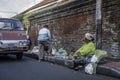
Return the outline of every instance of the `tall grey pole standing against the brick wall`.
{"type": "Polygon", "coordinates": [[[102,49],[102,0],[96,0],[96,49],[102,49]]]}

